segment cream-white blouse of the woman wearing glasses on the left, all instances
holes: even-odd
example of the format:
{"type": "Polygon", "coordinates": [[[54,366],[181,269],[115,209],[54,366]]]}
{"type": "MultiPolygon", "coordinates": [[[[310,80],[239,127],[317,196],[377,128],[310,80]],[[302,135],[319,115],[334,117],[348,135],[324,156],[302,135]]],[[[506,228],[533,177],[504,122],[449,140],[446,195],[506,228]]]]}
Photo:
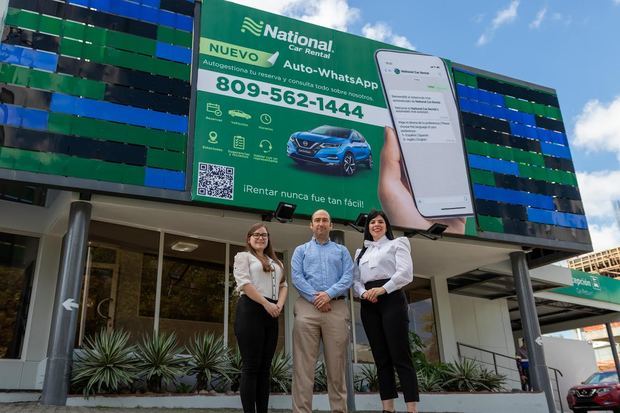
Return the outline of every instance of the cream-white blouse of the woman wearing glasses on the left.
{"type": "Polygon", "coordinates": [[[277,300],[280,293],[280,283],[283,287],[288,287],[282,268],[271,258],[267,257],[271,263],[273,271],[265,272],[263,264],[252,253],[243,251],[235,255],[233,275],[237,282],[235,291],[244,294],[242,287],[252,284],[263,297],[277,300]]]}

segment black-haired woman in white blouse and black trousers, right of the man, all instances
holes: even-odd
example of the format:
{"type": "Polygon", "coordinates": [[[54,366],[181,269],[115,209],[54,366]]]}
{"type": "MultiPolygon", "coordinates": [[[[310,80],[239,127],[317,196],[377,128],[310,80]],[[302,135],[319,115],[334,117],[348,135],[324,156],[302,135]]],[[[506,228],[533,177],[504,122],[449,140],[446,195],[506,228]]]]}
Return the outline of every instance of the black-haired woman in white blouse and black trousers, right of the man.
{"type": "Polygon", "coordinates": [[[398,374],[408,412],[417,411],[418,380],[409,347],[408,304],[402,288],[413,281],[411,246],[394,239],[382,211],[371,211],[364,228],[364,247],[355,255],[353,281],[361,298],[361,318],[379,376],[383,412],[394,412],[398,374]]]}

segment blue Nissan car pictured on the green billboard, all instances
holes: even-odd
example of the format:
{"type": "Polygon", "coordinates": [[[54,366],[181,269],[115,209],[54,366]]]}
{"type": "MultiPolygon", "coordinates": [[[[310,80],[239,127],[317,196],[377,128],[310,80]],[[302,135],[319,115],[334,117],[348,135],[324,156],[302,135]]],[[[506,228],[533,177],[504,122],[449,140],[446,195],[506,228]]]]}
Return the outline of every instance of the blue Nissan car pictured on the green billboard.
{"type": "Polygon", "coordinates": [[[298,164],[335,167],[345,176],[353,175],[360,164],[372,168],[370,145],[354,129],[323,125],[309,132],[295,132],[286,152],[298,164]]]}

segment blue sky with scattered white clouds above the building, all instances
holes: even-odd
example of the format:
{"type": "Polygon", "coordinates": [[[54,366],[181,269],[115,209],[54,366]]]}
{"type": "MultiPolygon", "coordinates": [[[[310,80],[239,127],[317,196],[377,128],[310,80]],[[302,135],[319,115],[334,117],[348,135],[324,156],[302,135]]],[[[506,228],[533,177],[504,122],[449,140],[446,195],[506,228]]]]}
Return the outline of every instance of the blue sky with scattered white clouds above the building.
{"type": "Polygon", "coordinates": [[[231,0],[556,90],[595,251],[620,246],[620,0],[231,0]]]}

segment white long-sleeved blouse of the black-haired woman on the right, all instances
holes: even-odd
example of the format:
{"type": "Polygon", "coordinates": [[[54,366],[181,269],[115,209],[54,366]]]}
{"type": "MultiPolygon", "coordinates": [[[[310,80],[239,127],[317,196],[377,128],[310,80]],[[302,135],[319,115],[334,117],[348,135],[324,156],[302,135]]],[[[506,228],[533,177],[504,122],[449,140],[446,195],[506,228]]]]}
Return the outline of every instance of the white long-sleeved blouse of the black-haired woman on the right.
{"type": "MultiPolygon", "coordinates": [[[[364,241],[366,252],[355,266],[353,292],[361,297],[366,292],[364,284],[389,278],[383,288],[389,294],[413,281],[411,245],[405,237],[389,240],[385,235],[377,241],[364,241]]],[[[362,250],[355,252],[355,263],[362,250]]]]}

